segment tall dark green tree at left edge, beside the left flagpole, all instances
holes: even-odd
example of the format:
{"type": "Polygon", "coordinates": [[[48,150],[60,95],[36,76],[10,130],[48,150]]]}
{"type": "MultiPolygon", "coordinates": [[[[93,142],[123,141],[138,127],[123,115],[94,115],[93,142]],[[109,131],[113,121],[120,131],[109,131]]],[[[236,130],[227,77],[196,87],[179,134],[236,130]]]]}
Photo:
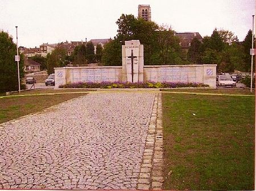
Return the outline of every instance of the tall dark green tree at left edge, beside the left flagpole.
{"type": "MultiPolygon", "coordinates": [[[[0,92],[18,90],[18,65],[14,60],[16,44],[7,32],[0,31],[0,92]]],[[[24,56],[20,55],[19,74],[23,78],[24,56]]]]}

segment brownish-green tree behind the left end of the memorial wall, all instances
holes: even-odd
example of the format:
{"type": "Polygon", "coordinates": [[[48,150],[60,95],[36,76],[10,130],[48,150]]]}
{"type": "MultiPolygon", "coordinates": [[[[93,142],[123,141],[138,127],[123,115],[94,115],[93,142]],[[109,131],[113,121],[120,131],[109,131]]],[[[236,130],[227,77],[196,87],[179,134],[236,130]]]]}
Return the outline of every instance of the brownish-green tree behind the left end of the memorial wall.
{"type": "Polygon", "coordinates": [[[54,73],[54,68],[56,67],[64,67],[66,65],[65,62],[66,51],[63,48],[57,47],[55,48],[51,54],[47,55],[47,73],[54,73]]]}

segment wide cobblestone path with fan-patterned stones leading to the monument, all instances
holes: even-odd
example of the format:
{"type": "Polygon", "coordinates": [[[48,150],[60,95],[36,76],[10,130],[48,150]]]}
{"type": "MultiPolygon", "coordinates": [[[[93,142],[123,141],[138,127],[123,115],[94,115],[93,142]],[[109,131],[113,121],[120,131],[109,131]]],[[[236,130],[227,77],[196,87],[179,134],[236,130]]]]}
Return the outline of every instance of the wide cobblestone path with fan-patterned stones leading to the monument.
{"type": "Polygon", "coordinates": [[[91,93],[0,126],[0,189],[137,189],[155,93],[91,93]]]}

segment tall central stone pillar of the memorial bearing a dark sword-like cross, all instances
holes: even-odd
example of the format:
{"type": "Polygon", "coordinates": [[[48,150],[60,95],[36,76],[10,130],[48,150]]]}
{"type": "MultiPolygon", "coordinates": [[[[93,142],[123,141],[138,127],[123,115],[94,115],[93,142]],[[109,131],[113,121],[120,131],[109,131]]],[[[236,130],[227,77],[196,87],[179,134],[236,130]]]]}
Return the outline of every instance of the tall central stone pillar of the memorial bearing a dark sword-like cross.
{"type": "Polygon", "coordinates": [[[122,81],[143,82],[143,45],[139,40],[125,41],[122,45],[122,81]]]}

